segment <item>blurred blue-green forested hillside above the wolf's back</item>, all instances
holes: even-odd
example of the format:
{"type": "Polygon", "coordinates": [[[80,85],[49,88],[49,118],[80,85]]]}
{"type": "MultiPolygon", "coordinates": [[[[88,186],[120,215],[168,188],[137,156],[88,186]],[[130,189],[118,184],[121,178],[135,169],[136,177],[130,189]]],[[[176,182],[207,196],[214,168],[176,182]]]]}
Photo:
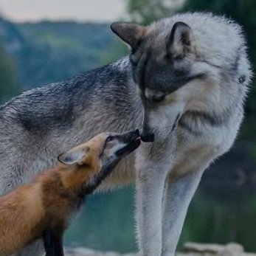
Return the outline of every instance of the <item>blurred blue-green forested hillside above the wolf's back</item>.
{"type": "MultiPolygon", "coordinates": [[[[0,18],[0,34],[8,49],[8,57],[4,57],[8,60],[1,58],[5,63],[2,68],[11,72],[15,63],[15,76],[7,77],[13,80],[16,77],[23,90],[103,66],[128,52],[125,44],[111,33],[108,24],[71,21],[12,24],[0,18]]],[[[4,77],[10,72],[1,74],[4,77]]],[[[15,88],[11,81],[6,83],[8,89],[4,84],[1,83],[1,89],[7,97],[3,94],[2,101],[16,93],[10,91],[15,88]]]]}

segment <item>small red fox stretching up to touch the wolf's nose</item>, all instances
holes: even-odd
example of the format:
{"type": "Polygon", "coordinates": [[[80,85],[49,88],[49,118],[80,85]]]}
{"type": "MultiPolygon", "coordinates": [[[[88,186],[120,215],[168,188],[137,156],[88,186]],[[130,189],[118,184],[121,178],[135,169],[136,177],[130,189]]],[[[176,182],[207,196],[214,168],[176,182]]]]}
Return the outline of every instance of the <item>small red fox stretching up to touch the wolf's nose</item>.
{"type": "Polygon", "coordinates": [[[63,232],[86,194],[140,145],[139,131],[100,134],[58,156],[59,164],[0,198],[0,256],[43,238],[46,256],[63,256],[63,232]]]}

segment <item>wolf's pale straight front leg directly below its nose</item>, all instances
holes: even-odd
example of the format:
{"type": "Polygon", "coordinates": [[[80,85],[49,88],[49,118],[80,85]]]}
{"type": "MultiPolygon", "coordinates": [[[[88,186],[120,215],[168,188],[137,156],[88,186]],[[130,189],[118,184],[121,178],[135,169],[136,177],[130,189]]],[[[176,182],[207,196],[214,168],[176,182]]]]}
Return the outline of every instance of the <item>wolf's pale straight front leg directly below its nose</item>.
{"type": "Polygon", "coordinates": [[[165,149],[162,151],[161,145],[148,145],[143,143],[136,154],[137,234],[142,256],[160,256],[162,198],[171,161],[170,153],[165,154],[165,149]]]}

